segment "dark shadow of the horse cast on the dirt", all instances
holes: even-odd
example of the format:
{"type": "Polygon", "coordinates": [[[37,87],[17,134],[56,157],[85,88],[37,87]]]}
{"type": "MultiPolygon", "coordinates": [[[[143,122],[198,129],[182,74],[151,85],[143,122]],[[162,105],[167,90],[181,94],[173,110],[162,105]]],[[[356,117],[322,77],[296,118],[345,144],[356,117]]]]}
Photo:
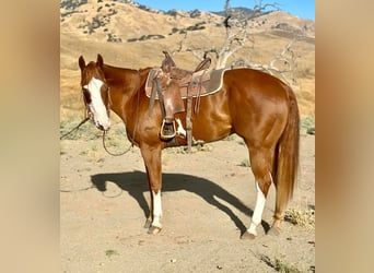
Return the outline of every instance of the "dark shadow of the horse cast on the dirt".
{"type": "MultiPolygon", "coordinates": [[[[147,175],[142,171],[131,173],[117,173],[117,174],[97,174],[91,176],[92,183],[97,190],[106,191],[106,182],[110,181],[116,183],[121,190],[127,191],[131,197],[137,200],[140,207],[143,210],[145,217],[149,215],[149,205],[144,198],[144,192],[149,192],[147,181],[147,175]]],[[[224,200],[229,204],[232,204],[242,213],[252,216],[253,210],[247,207],[241,200],[234,197],[232,193],[221,188],[217,183],[196,176],[183,175],[183,174],[163,174],[162,191],[180,191],[186,190],[192,192],[209,204],[218,207],[222,212],[226,213],[230,218],[235,223],[236,227],[243,234],[246,230],[246,226],[243,222],[233,213],[233,211],[226,205],[220,203],[214,197],[224,200]]],[[[262,221],[261,225],[265,232],[269,230],[270,226],[267,222],[262,221]]]]}

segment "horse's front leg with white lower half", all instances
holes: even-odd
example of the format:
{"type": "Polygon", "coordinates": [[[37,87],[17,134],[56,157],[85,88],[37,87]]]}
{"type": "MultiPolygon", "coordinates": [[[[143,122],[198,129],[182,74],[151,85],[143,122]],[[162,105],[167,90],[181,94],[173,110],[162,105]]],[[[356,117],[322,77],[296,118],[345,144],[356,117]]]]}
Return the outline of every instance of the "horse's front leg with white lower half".
{"type": "Polygon", "coordinates": [[[161,173],[161,146],[142,145],[140,147],[141,154],[144,159],[147,169],[148,183],[151,192],[150,216],[147,219],[145,227],[149,227],[149,234],[157,234],[161,232],[161,187],[162,187],[162,173],[161,173]]]}

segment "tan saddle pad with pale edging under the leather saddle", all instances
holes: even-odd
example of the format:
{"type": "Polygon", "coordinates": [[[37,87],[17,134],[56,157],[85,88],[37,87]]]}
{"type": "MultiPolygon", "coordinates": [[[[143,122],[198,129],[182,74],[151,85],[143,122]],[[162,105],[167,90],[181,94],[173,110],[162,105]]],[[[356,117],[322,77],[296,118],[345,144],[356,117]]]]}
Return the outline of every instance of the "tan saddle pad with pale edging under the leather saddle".
{"type": "MultiPolygon", "coordinates": [[[[145,83],[145,94],[148,97],[151,97],[152,87],[153,87],[153,79],[160,68],[154,68],[148,74],[147,83],[145,83]]],[[[221,90],[223,84],[223,73],[226,69],[218,69],[218,70],[201,70],[196,73],[192,73],[190,80],[176,80],[179,82],[179,90],[182,98],[187,98],[187,88],[190,86],[190,93],[192,97],[197,96],[207,96],[213,93],[217,93],[221,90]],[[200,87],[201,82],[201,87],[200,87]]],[[[157,95],[156,95],[157,98],[157,95]]]]}

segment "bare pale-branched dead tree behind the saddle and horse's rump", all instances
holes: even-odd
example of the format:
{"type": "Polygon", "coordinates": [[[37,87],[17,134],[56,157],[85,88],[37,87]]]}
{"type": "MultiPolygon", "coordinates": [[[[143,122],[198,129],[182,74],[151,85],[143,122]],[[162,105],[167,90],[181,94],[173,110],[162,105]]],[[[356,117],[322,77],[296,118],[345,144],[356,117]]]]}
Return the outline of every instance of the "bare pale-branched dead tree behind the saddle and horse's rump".
{"type": "Polygon", "coordinates": [[[262,71],[267,71],[270,74],[276,74],[280,76],[283,81],[289,84],[294,84],[294,75],[293,71],[295,68],[296,56],[292,49],[292,46],[296,41],[297,37],[291,40],[289,44],[284,46],[281,51],[272,58],[272,60],[268,64],[262,63],[254,63],[250,60],[250,52],[255,47],[255,39],[250,33],[249,22],[261,15],[268,8],[272,10],[279,10],[278,3],[262,3],[261,0],[258,1],[246,16],[238,17],[235,15],[233,10],[230,8],[230,0],[225,0],[224,4],[224,20],[222,22],[222,26],[225,29],[225,36],[221,44],[221,46],[215,47],[212,45],[210,48],[199,48],[196,46],[185,46],[186,40],[188,38],[188,33],[185,33],[184,37],[179,41],[178,48],[176,51],[189,51],[199,60],[202,59],[203,56],[210,55],[215,60],[215,69],[226,68],[227,61],[230,57],[242,49],[249,49],[249,55],[243,59],[234,59],[230,67],[249,67],[254,69],[259,69],[262,71]]]}

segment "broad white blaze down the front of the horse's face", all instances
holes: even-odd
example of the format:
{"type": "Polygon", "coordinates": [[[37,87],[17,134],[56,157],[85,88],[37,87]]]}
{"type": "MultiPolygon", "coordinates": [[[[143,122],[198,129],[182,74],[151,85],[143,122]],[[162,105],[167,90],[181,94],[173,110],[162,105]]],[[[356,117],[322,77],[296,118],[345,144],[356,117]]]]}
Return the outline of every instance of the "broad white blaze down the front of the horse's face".
{"type": "Polygon", "coordinates": [[[89,90],[91,95],[90,109],[94,116],[95,124],[102,126],[104,130],[107,130],[110,127],[110,120],[100,91],[103,84],[101,80],[92,78],[84,87],[89,90]]]}

